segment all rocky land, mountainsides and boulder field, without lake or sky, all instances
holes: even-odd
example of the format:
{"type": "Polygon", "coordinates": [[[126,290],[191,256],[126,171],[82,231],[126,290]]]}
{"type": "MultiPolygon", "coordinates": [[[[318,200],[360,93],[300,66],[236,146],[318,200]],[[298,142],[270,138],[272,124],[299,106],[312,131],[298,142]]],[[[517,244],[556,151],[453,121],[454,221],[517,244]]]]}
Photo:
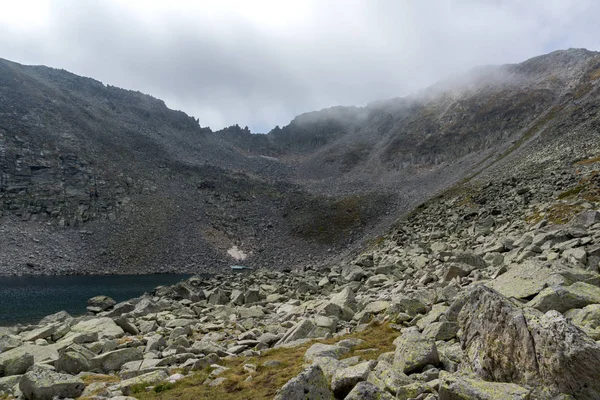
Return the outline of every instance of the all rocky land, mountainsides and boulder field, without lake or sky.
{"type": "Polygon", "coordinates": [[[598,399],[599,111],[584,49],[266,134],[0,60],[0,274],[195,274],[0,328],[0,399],[598,399]]]}

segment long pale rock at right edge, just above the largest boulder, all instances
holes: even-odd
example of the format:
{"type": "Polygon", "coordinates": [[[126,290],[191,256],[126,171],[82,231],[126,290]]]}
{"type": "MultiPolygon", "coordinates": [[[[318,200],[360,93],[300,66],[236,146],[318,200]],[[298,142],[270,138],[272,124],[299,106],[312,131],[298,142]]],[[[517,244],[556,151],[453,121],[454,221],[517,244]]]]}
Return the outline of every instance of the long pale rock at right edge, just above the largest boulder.
{"type": "Polygon", "coordinates": [[[551,286],[542,290],[527,305],[541,312],[556,310],[565,312],[571,308],[582,308],[600,303],[600,288],[585,282],[571,286],[551,286]]]}

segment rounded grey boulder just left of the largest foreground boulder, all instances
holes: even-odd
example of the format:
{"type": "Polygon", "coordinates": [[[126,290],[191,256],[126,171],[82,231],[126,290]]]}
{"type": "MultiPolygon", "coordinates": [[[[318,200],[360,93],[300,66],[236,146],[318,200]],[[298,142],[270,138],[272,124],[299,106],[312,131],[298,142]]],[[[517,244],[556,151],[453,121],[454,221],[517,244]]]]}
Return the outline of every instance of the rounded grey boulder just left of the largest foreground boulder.
{"type": "Polygon", "coordinates": [[[435,341],[419,333],[417,328],[407,329],[394,343],[394,367],[404,373],[418,372],[426,365],[435,366],[440,362],[435,341]]]}

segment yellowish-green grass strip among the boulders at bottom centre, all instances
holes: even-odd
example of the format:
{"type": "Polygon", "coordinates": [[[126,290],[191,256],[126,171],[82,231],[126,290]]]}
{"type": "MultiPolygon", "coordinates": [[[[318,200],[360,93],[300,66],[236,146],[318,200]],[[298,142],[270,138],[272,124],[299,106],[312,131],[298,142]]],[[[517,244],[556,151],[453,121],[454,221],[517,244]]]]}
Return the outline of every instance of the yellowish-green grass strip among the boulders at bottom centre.
{"type": "Polygon", "coordinates": [[[203,385],[210,371],[201,371],[172,384],[172,386],[160,390],[145,391],[145,388],[135,394],[140,400],[262,400],[272,399],[277,390],[285,383],[298,375],[304,367],[304,353],[316,342],[333,344],[342,339],[359,338],[364,343],[353,349],[345,357],[360,355],[365,360],[375,359],[380,354],[393,351],[392,342],[398,336],[398,332],[389,327],[389,324],[373,324],[362,332],[345,335],[340,338],[327,340],[315,340],[293,348],[278,348],[267,350],[258,357],[237,357],[222,362],[228,367],[220,377],[227,380],[220,386],[209,387],[203,385]],[[373,352],[361,353],[360,350],[376,349],[373,352]],[[267,361],[277,361],[275,367],[264,367],[267,361]],[[245,364],[254,364],[257,369],[253,374],[244,370],[245,364]],[[246,379],[252,376],[250,382],[246,379]]]}

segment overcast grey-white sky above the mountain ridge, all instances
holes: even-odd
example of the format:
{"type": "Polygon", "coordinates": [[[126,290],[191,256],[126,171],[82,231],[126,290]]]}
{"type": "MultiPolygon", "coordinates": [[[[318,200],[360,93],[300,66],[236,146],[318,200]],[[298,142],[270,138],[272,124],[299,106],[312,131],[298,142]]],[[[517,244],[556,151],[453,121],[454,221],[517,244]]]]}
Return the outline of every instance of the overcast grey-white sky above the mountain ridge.
{"type": "Polygon", "coordinates": [[[4,0],[0,57],[254,132],[471,67],[600,50],[600,1],[4,0]]]}

